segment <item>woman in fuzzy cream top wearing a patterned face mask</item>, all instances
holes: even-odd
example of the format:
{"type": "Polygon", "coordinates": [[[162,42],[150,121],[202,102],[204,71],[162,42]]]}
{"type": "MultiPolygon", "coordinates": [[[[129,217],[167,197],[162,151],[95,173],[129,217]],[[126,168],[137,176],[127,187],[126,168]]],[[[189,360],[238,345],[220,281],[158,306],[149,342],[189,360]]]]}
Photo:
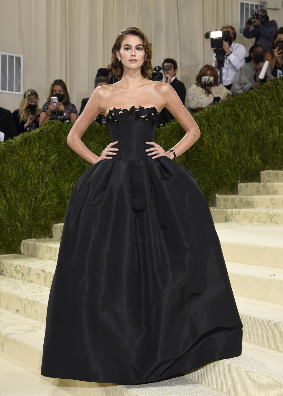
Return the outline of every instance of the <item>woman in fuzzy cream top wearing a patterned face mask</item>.
{"type": "Polygon", "coordinates": [[[231,97],[229,89],[218,83],[218,73],[213,66],[205,65],[199,70],[196,83],[187,91],[185,107],[192,112],[202,110],[204,107],[214,105],[214,97],[219,101],[231,97]]]}

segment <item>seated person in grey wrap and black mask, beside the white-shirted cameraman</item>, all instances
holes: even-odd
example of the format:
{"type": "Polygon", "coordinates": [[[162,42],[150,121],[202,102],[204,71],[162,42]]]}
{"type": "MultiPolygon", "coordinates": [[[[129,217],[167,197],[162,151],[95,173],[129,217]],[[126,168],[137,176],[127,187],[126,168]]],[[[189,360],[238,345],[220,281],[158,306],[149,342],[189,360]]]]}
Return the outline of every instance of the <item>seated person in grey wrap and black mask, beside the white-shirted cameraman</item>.
{"type": "MultiPolygon", "coordinates": [[[[231,87],[232,95],[237,93],[248,92],[250,89],[260,88],[259,75],[263,67],[264,49],[258,44],[254,44],[249,50],[249,56],[246,58],[246,65],[241,67],[234,84],[231,87]]],[[[273,76],[268,65],[264,81],[273,80],[273,76]]]]}

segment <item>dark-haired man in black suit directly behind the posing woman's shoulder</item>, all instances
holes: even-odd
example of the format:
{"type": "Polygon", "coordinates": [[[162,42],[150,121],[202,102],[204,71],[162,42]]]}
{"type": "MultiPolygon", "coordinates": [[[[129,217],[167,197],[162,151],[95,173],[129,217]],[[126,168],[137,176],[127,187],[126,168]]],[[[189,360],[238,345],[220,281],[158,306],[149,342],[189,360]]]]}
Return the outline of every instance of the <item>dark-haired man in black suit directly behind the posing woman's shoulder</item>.
{"type": "MultiPolygon", "coordinates": [[[[179,81],[178,78],[176,77],[177,73],[177,62],[175,59],[171,58],[166,58],[163,61],[162,67],[163,66],[171,66],[170,70],[164,70],[164,77],[165,80],[172,88],[175,89],[175,91],[178,93],[178,96],[180,97],[183,105],[185,104],[185,97],[186,97],[186,88],[184,86],[184,83],[182,81],[179,81]]],[[[166,122],[170,122],[170,120],[174,120],[174,116],[168,111],[167,109],[163,109],[160,112],[159,115],[159,123],[160,124],[165,124],[166,122]]]]}

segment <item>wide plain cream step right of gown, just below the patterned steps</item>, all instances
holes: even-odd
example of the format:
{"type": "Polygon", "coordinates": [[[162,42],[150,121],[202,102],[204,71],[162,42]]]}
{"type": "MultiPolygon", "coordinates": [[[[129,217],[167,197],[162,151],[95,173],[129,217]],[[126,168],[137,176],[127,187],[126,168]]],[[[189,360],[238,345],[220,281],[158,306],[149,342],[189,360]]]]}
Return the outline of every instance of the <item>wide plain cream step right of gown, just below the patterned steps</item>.
{"type": "Polygon", "coordinates": [[[215,223],[224,259],[283,269],[283,226],[215,223]]]}

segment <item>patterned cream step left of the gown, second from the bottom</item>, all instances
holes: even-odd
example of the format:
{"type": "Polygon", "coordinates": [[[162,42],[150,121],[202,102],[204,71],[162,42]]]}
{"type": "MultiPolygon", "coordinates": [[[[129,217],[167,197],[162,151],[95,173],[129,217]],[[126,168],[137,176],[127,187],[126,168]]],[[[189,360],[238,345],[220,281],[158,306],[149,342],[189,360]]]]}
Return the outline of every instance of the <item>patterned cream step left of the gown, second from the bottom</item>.
{"type": "Polygon", "coordinates": [[[50,288],[0,276],[0,307],[41,323],[46,321],[50,288]]]}

